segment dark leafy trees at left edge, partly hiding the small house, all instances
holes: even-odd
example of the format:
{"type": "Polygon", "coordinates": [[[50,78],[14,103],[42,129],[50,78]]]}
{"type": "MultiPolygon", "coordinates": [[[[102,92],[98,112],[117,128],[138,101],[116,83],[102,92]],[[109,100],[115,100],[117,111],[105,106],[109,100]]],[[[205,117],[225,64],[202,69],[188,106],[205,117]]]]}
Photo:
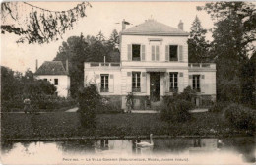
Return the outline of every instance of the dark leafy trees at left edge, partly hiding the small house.
{"type": "MultiPolygon", "coordinates": [[[[12,108],[23,108],[23,100],[30,97],[32,105],[45,100],[46,96],[53,96],[56,87],[49,82],[36,80],[30,70],[25,76],[1,66],[1,110],[9,111],[12,108]]],[[[48,97],[46,98],[48,100],[48,97]]]]}

